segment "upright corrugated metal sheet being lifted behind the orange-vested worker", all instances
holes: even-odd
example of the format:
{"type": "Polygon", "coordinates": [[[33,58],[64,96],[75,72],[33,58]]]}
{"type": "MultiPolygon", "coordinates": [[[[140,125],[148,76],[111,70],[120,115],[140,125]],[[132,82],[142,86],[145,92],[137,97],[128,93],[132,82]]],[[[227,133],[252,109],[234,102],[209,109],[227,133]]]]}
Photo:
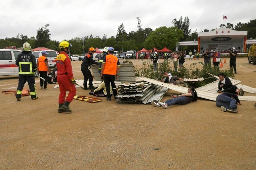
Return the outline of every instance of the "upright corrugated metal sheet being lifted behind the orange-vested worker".
{"type": "MultiPolygon", "coordinates": [[[[95,80],[101,81],[100,73],[98,72],[99,65],[91,67],[95,80]]],[[[118,73],[118,82],[136,82],[134,66],[132,63],[121,63],[120,70],[118,73]]]]}

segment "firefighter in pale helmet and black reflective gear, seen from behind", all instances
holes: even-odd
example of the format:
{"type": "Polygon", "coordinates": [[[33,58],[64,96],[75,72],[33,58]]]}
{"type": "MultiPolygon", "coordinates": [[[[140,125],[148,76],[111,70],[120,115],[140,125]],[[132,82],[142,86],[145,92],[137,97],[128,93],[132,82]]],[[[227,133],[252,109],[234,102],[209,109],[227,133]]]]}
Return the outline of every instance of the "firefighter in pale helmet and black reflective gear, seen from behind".
{"type": "Polygon", "coordinates": [[[32,100],[36,100],[38,99],[35,84],[36,57],[31,53],[29,43],[25,42],[22,47],[23,51],[16,59],[16,65],[19,67],[19,84],[16,99],[20,101],[23,87],[28,82],[30,97],[32,100]]]}

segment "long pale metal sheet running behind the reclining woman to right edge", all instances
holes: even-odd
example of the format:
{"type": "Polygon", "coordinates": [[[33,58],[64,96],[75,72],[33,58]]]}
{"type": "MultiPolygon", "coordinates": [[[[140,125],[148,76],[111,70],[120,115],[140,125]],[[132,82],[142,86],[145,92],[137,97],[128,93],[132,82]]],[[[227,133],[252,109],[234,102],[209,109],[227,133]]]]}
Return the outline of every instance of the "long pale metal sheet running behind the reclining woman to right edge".
{"type": "MultiPolygon", "coordinates": [[[[136,79],[141,80],[141,81],[147,81],[147,82],[155,84],[155,85],[161,85],[163,87],[172,89],[177,92],[181,92],[181,93],[188,92],[188,88],[186,88],[186,87],[171,85],[171,84],[163,83],[163,82],[153,80],[150,78],[137,77],[136,79]]],[[[211,92],[204,92],[202,90],[196,90],[196,92],[197,92],[198,97],[208,99],[208,100],[213,100],[213,101],[216,101],[216,97],[219,95],[219,93],[216,94],[216,93],[211,93],[211,92]]],[[[256,96],[238,96],[238,98],[239,98],[239,100],[242,100],[242,101],[256,101],[256,96]]]]}

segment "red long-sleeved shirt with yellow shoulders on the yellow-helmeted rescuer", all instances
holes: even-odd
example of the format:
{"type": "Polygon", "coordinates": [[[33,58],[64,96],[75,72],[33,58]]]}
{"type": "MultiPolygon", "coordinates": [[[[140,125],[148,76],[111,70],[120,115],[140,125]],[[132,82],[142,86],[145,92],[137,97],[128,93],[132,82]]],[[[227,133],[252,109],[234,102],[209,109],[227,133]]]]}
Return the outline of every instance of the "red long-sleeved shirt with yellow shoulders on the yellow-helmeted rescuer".
{"type": "Polygon", "coordinates": [[[65,51],[60,51],[60,54],[56,57],[56,65],[58,68],[58,75],[67,73],[70,80],[74,78],[71,60],[65,51]]]}

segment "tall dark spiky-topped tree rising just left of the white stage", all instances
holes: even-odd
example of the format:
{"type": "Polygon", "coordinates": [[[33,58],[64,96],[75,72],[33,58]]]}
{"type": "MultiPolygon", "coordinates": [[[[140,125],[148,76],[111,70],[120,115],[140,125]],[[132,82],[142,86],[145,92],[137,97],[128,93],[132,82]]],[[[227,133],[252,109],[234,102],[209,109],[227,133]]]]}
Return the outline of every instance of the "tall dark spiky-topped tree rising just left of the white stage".
{"type": "Polygon", "coordinates": [[[182,16],[180,17],[179,20],[177,20],[176,18],[174,18],[172,20],[172,24],[174,24],[174,26],[178,27],[178,29],[182,30],[184,33],[184,37],[181,38],[180,41],[188,41],[189,40],[189,35],[191,33],[191,29],[189,29],[189,18],[188,16],[186,16],[184,18],[184,21],[182,21],[182,16]]]}

